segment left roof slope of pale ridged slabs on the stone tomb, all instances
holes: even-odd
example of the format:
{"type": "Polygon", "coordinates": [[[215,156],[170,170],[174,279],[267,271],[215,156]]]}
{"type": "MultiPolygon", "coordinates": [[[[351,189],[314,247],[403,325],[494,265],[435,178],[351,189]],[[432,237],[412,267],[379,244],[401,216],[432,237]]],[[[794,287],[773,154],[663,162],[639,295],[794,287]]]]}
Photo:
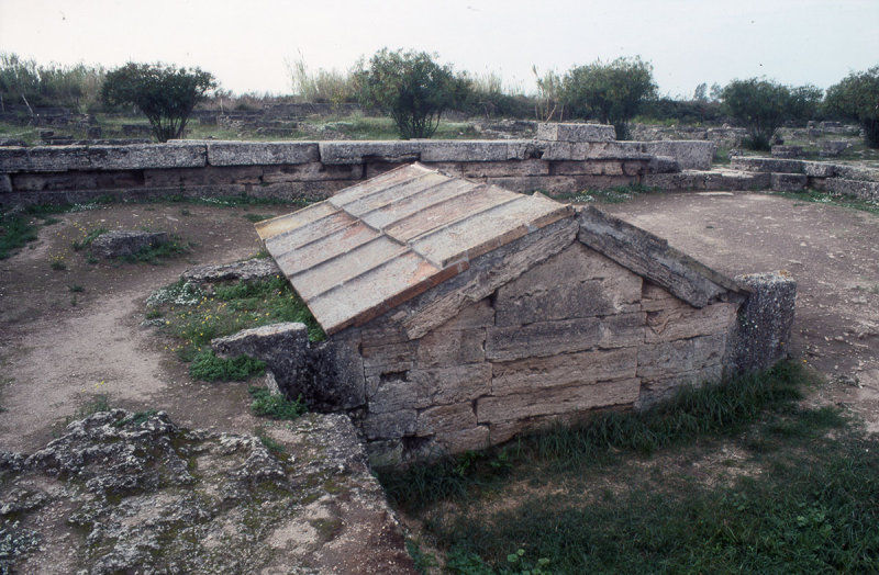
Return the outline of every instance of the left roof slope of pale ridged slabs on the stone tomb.
{"type": "Polygon", "coordinates": [[[470,260],[572,214],[541,195],[403,166],[256,224],[327,334],[377,317],[470,260]]]}

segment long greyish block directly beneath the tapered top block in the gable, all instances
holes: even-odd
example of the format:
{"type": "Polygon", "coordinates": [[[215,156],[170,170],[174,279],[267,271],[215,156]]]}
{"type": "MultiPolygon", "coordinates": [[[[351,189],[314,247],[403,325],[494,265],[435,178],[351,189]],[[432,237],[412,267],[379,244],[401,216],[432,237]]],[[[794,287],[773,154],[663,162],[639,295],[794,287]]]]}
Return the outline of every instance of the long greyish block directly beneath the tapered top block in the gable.
{"type": "Polygon", "coordinates": [[[644,337],[643,319],[643,314],[634,313],[490,328],[486,340],[486,358],[490,361],[511,361],[598,347],[630,347],[644,337]]]}

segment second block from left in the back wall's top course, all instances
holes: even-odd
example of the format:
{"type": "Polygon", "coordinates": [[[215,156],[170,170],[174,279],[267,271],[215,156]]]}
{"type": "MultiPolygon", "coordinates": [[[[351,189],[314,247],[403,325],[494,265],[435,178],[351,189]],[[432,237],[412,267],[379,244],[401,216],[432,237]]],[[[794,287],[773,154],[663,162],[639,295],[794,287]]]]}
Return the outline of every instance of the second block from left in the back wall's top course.
{"type": "Polygon", "coordinates": [[[209,142],[211,166],[270,166],[318,161],[315,142],[209,142]]]}

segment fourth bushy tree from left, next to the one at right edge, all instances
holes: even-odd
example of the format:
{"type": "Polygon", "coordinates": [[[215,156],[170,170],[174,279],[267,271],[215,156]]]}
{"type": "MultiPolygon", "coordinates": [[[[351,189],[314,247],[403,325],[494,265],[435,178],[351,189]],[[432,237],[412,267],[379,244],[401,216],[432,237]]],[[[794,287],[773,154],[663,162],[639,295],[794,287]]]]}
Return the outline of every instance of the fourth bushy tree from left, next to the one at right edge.
{"type": "Polygon", "coordinates": [[[724,87],[721,99],[728,114],[748,129],[745,146],[769,149],[772,137],[788,117],[790,89],[758,78],[733,80],[724,87]]]}

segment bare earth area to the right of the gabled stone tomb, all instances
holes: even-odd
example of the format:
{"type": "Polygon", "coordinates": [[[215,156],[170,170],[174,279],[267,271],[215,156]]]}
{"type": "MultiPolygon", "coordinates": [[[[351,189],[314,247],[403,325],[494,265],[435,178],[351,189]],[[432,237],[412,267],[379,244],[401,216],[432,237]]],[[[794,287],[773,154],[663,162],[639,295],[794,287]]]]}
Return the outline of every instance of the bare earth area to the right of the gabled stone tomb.
{"type": "Polygon", "coordinates": [[[602,208],[727,275],[790,271],[791,353],[832,381],[816,399],[850,407],[879,431],[879,217],[730,192],[648,194],[602,208]]]}

